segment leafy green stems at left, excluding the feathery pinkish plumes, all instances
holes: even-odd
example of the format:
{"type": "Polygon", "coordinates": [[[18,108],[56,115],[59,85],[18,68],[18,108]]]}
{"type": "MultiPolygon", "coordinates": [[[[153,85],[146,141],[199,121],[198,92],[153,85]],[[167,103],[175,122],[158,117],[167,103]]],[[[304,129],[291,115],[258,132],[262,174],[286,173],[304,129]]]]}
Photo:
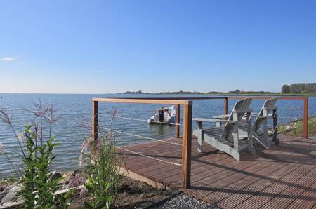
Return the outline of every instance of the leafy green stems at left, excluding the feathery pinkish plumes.
{"type": "Polygon", "coordinates": [[[56,208],[57,205],[66,208],[60,195],[55,194],[61,189],[58,184],[62,177],[53,178],[49,168],[55,156],[52,151],[58,145],[51,137],[46,143],[36,144],[32,126],[25,125],[26,156],[22,157],[25,170],[22,177],[20,194],[25,200],[25,208],[56,208]]]}

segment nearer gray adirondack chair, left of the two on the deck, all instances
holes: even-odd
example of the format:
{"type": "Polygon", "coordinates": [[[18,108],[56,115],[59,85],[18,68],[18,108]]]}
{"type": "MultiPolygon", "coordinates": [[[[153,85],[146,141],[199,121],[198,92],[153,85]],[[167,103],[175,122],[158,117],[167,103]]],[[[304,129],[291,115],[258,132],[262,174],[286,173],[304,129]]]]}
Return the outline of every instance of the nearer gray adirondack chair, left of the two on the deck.
{"type": "Polygon", "coordinates": [[[216,149],[230,154],[234,159],[239,161],[239,151],[248,149],[252,154],[255,154],[255,149],[251,136],[251,109],[249,105],[252,99],[247,98],[236,102],[232,113],[228,119],[203,119],[194,118],[197,122],[197,129],[193,130],[193,135],[197,137],[197,150],[203,151],[203,142],[210,144],[216,149]],[[246,118],[247,130],[244,131],[239,126],[242,126],[243,117],[246,118]],[[203,128],[203,122],[216,123],[216,127],[203,128]],[[225,123],[224,127],[221,123],[225,123]],[[231,145],[232,144],[232,145],[231,145]]]}

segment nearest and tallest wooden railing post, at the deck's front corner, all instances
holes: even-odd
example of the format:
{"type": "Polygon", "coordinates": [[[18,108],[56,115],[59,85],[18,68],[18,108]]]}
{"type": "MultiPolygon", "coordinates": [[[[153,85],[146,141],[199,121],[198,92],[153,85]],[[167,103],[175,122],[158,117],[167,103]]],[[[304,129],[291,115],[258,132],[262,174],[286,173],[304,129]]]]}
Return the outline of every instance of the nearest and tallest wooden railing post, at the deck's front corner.
{"type": "Polygon", "coordinates": [[[183,109],[182,140],[182,184],[187,189],[191,184],[191,144],[192,144],[192,101],[183,109]]]}

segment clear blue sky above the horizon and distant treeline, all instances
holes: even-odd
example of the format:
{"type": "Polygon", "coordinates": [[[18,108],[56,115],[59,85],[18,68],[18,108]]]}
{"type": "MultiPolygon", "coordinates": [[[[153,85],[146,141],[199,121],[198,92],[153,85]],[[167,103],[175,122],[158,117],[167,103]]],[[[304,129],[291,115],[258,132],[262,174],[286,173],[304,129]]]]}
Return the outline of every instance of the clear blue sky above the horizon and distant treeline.
{"type": "Polygon", "coordinates": [[[0,1],[0,92],[316,82],[316,1],[0,1]]]}

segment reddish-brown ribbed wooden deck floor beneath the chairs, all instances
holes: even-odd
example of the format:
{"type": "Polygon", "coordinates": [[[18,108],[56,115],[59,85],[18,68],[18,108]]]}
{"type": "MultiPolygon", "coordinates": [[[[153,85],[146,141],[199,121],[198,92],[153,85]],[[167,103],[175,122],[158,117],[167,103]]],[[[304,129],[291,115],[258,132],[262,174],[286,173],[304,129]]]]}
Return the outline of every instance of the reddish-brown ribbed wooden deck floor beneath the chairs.
{"type": "MultiPolygon", "coordinates": [[[[241,161],[235,161],[207,144],[198,153],[193,138],[190,189],[180,189],[180,166],[119,152],[133,173],[220,208],[316,208],[316,139],[282,135],[279,139],[279,147],[256,147],[256,156],[243,152],[241,161]]],[[[174,141],[181,143],[180,139],[174,141]]],[[[124,148],[181,163],[178,145],[149,142],[124,148]]]]}

